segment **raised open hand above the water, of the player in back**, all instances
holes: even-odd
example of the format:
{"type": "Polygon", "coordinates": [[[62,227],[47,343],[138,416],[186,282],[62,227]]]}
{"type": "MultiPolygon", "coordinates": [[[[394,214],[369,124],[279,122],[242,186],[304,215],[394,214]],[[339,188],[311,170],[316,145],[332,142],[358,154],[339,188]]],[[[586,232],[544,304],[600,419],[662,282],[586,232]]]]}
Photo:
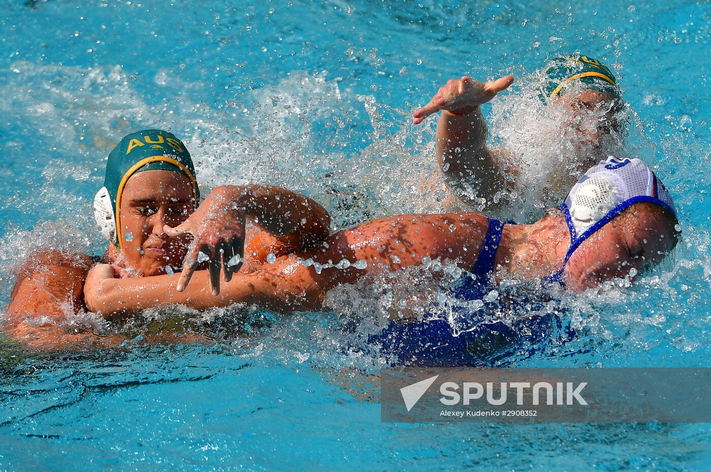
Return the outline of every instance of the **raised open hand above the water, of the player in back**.
{"type": "Polygon", "coordinates": [[[497,80],[479,82],[471,77],[450,79],[440,88],[429,103],[412,115],[412,123],[420,124],[427,116],[437,111],[447,110],[451,114],[466,115],[478,106],[496,97],[498,92],[508,88],[513,83],[513,75],[505,75],[497,80]]]}

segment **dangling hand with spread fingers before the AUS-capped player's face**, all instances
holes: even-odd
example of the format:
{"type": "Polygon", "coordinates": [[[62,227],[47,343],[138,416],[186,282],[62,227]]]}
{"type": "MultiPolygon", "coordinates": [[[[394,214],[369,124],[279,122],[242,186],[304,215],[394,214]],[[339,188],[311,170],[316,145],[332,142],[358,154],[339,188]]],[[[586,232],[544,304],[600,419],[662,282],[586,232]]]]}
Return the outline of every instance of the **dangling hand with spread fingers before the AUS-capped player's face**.
{"type": "Polygon", "coordinates": [[[164,231],[171,238],[185,234],[193,235],[188,255],[183,261],[183,271],[178,280],[178,292],[185,290],[193,273],[203,262],[209,260],[210,285],[213,295],[220,293],[220,271],[225,282],[232,279],[242,266],[245,248],[245,209],[232,195],[219,187],[213,190],[204,202],[183,224],[164,231]]]}

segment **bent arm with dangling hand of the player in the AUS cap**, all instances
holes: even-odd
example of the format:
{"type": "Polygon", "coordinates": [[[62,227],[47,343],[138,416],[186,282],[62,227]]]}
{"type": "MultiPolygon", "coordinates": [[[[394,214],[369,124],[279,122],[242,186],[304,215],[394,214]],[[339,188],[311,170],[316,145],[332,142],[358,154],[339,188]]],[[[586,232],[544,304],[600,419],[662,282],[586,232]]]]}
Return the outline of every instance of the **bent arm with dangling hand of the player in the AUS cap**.
{"type": "Polygon", "coordinates": [[[210,285],[220,292],[220,269],[225,281],[240,270],[244,260],[245,219],[289,243],[293,251],[310,248],[329,234],[331,216],[309,197],[272,185],[217,187],[183,224],[165,226],[168,236],[195,238],[178,281],[184,290],[201,262],[210,259],[210,285]]]}

